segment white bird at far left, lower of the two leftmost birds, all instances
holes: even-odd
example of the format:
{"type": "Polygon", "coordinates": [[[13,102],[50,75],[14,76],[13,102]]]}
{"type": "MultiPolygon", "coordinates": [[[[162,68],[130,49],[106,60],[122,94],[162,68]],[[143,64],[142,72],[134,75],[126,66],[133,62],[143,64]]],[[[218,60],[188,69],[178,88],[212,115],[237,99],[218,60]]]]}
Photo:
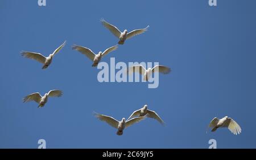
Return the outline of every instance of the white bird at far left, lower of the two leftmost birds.
{"type": "Polygon", "coordinates": [[[40,93],[36,92],[24,97],[23,103],[35,101],[36,103],[39,103],[38,107],[40,108],[46,104],[48,97],[60,97],[62,94],[63,92],[61,90],[50,90],[48,93],[44,94],[44,96],[41,96],[40,93]]]}

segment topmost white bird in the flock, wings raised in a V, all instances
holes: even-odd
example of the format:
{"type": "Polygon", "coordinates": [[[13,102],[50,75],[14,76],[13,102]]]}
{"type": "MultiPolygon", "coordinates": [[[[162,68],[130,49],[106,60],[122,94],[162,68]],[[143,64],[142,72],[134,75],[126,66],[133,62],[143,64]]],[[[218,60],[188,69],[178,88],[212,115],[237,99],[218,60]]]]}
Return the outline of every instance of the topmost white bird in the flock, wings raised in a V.
{"type": "Polygon", "coordinates": [[[104,19],[101,19],[101,23],[104,25],[104,27],[108,28],[110,32],[114,34],[115,37],[119,39],[118,44],[123,45],[125,43],[125,40],[128,40],[131,37],[137,36],[138,34],[142,34],[148,30],[149,25],[146,28],[142,29],[135,29],[129,33],[127,33],[127,29],[125,31],[121,32],[117,27],[115,27],[112,24],[109,24],[104,19]]]}

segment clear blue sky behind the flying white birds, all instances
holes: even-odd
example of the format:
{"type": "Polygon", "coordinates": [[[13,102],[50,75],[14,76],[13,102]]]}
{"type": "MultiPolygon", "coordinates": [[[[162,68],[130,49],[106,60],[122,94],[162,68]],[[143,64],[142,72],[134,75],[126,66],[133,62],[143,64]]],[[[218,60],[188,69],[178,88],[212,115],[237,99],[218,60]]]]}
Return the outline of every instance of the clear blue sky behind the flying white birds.
{"type": "Polygon", "coordinates": [[[0,1],[0,148],[217,148],[256,146],[256,1],[0,1]],[[100,23],[122,31],[150,31],[126,41],[110,57],[116,62],[159,62],[172,68],[159,87],[146,83],[99,83],[100,70],[71,49],[95,52],[117,44],[100,23]],[[28,50],[48,55],[67,45],[47,70],[23,58],[28,50]],[[22,103],[27,94],[61,89],[42,109],[22,103]],[[166,122],[146,119],[123,136],[97,120],[93,111],[120,120],[147,104],[166,122]],[[236,120],[241,135],[228,129],[206,133],[215,116],[236,120]]]}

